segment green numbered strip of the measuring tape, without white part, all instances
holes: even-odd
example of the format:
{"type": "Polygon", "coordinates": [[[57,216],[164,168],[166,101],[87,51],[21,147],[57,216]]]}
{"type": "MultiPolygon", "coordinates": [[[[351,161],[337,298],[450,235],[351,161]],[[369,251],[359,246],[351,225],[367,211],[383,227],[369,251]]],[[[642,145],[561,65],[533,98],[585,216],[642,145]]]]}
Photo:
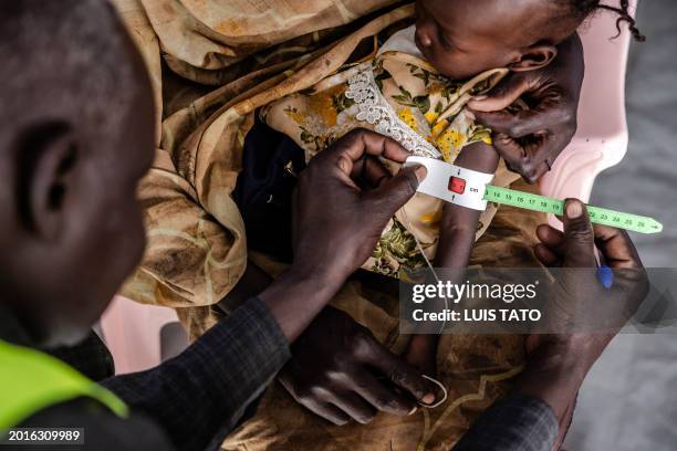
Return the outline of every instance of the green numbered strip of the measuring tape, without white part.
{"type": "MultiPolygon", "coordinates": [[[[508,188],[499,188],[491,185],[487,185],[485,200],[543,213],[564,214],[563,200],[532,195],[530,192],[515,191],[508,188]]],[[[663,231],[663,224],[653,218],[590,206],[587,207],[587,213],[591,222],[602,226],[611,226],[639,233],[658,233],[663,231]]]]}

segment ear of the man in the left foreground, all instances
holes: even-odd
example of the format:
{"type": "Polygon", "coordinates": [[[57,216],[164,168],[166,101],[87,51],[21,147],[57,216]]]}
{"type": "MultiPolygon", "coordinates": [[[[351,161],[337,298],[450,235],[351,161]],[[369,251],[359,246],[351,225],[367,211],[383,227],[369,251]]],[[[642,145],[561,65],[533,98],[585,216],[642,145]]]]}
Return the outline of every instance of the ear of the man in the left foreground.
{"type": "Polygon", "coordinates": [[[66,210],[80,164],[77,139],[63,122],[33,124],[22,136],[15,149],[20,219],[39,239],[55,241],[71,219],[66,210]]]}

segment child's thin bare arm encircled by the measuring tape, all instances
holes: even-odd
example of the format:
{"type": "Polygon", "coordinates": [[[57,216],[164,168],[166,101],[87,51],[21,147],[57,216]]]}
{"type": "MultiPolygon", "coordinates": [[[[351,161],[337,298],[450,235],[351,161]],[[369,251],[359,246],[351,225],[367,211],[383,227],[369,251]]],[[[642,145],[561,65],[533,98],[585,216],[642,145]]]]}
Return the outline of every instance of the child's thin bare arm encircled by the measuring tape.
{"type": "MultiPolygon", "coordinates": [[[[485,143],[475,143],[461,150],[454,161],[456,166],[493,174],[499,155],[485,143]]],[[[439,244],[435,259],[436,268],[444,268],[445,279],[459,283],[466,273],[481,211],[446,203],[439,227],[439,244]]],[[[406,360],[424,374],[433,375],[436,368],[437,335],[414,335],[409,342],[406,360]]]]}

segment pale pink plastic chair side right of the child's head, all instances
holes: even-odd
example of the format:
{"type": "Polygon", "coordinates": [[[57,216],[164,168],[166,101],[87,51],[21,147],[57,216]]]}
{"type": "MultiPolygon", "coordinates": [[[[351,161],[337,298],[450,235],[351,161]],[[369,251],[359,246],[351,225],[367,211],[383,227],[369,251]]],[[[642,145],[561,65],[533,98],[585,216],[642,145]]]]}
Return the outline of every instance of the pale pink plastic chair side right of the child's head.
{"type": "MultiPolygon", "coordinates": [[[[636,0],[631,1],[632,11],[636,0]]],[[[616,34],[617,17],[604,11],[581,30],[585,49],[585,80],[579,105],[579,130],[540,181],[544,196],[590,200],[595,178],[617,165],[627,153],[625,73],[631,35],[616,34]]],[[[551,216],[550,222],[561,227],[551,216]]]]}

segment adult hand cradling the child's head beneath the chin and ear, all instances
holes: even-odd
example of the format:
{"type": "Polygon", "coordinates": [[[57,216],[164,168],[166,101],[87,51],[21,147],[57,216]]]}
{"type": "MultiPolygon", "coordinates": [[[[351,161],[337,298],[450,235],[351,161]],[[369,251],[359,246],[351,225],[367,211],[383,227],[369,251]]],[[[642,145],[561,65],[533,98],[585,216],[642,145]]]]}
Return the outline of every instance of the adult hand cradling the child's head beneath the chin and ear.
{"type": "Polygon", "coordinates": [[[468,104],[478,122],[493,130],[493,147],[508,167],[533,183],[548,172],[576,132],[579,98],[585,72],[583,45],[577,34],[558,48],[548,66],[513,72],[486,98],[468,104]],[[504,111],[519,97],[529,111],[504,111]]]}

